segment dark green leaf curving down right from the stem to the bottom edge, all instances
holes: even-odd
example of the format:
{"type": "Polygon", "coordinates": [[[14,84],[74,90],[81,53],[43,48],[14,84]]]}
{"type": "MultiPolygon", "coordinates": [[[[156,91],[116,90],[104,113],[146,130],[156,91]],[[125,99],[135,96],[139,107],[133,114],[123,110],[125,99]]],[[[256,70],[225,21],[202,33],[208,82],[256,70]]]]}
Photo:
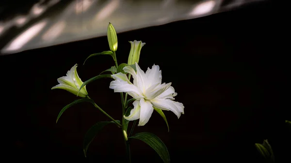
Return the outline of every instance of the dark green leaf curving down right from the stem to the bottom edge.
{"type": "Polygon", "coordinates": [[[145,142],[159,154],[164,163],[170,163],[170,154],[167,147],[162,142],[162,140],[155,134],[146,132],[136,133],[134,136],[130,136],[129,138],[139,139],[145,142]]]}

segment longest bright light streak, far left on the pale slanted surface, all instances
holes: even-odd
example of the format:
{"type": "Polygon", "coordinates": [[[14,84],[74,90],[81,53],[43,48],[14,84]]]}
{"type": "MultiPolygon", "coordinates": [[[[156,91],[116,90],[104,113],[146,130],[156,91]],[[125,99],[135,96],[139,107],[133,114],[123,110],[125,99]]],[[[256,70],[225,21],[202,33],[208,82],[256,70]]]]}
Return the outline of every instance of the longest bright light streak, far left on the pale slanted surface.
{"type": "Polygon", "coordinates": [[[14,51],[20,49],[23,45],[27,44],[32,38],[34,38],[47,24],[47,21],[41,21],[34,24],[31,28],[21,33],[16,39],[14,39],[7,48],[3,48],[3,51],[14,51]]]}

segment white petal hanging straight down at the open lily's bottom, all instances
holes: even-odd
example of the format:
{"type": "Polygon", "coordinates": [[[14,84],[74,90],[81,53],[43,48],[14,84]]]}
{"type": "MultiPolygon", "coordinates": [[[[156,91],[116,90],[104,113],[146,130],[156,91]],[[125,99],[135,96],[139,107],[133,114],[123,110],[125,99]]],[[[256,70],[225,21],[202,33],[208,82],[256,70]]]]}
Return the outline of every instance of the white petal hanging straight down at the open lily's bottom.
{"type": "Polygon", "coordinates": [[[140,120],[139,120],[138,126],[144,126],[148,122],[149,118],[151,117],[154,111],[154,108],[149,100],[144,100],[144,99],[140,100],[140,106],[141,106],[141,112],[140,112],[140,120]]]}

